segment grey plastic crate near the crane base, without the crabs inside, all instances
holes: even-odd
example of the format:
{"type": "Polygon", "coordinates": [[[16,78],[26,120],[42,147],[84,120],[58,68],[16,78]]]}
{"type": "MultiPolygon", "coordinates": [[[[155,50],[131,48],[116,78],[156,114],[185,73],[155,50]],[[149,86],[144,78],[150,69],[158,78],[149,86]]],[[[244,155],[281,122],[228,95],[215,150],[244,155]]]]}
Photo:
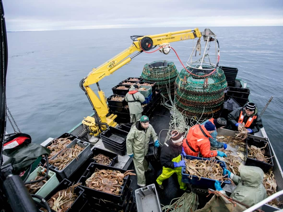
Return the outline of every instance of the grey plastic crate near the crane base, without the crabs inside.
{"type": "MultiPolygon", "coordinates": [[[[60,177],[61,179],[64,179],[64,178],[68,179],[92,154],[90,143],[79,140],[79,139],[73,140],[66,147],[71,148],[72,146],[76,144],[83,147],[84,149],[77,155],[77,158],[74,158],[72,161],[70,161],[70,163],[68,163],[68,165],[65,166],[65,168],[59,170],[56,166],[53,166],[50,164],[50,169],[53,172],[56,172],[58,178],[60,177]]],[[[52,157],[52,159],[55,159],[57,155],[52,157]]]]}

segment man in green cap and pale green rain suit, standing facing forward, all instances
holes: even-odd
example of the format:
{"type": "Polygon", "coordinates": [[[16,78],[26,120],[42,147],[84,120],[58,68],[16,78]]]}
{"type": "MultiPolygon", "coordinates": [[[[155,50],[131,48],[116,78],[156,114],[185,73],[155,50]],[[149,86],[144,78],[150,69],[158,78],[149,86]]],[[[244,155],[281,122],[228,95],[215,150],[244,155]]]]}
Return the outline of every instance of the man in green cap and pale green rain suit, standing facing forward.
{"type": "Polygon", "coordinates": [[[149,118],[141,116],[140,120],[132,125],[126,140],[127,154],[133,158],[138,185],[141,187],[145,186],[146,183],[145,172],[148,170],[148,162],[145,155],[148,152],[150,138],[155,141],[154,146],[158,147],[158,137],[151,124],[149,124],[149,118]]]}

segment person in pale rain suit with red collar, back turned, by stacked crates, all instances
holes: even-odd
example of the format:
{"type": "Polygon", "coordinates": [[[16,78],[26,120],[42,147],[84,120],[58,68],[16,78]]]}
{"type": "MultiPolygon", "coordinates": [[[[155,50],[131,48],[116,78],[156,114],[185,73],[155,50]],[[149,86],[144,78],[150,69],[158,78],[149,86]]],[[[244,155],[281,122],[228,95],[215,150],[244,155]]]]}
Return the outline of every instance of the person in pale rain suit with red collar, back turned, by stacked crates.
{"type": "Polygon", "coordinates": [[[138,85],[130,87],[129,92],[125,96],[125,100],[128,102],[130,110],[130,122],[136,122],[140,120],[141,113],[143,111],[141,103],[145,101],[145,97],[138,92],[138,85]]]}

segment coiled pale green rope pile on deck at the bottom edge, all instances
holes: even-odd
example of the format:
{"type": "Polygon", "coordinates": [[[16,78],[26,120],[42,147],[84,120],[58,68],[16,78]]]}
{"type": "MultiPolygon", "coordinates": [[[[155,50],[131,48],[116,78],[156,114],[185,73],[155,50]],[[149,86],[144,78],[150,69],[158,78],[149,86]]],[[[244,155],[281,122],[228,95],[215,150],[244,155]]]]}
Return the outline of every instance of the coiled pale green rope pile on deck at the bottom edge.
{"type": "Polygon", "coordinates": [[[181,197],[171,200],[169,205],[165,205],[161,209],[164,212],[188,212],[195,211],[197,206],[198,196],[193,192],[185,192],[181,197]],[[173,201],[175,202],[172,203],[173,201]]]}

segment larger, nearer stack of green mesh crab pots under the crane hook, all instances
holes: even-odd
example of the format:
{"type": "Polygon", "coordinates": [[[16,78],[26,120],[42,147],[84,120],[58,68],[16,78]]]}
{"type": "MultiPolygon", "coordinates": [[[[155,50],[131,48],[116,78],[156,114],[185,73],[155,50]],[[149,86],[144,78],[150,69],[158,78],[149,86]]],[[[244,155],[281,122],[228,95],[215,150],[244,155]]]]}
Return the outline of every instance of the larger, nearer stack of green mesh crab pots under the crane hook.
{"type": "MultiPolygon", "coordinates": [[[[202,66],[202,68],[212,67],[202,66]]],[[[213,74],[200,77],[208,73],[189,67],[186,69],[198,76],[188,73],[185,68],[181,70],[175,82],[176,107],[188,117],[218,118],[224,102],[224,90],[227,87],[223,70],[217,68],[213,74]]]]}

